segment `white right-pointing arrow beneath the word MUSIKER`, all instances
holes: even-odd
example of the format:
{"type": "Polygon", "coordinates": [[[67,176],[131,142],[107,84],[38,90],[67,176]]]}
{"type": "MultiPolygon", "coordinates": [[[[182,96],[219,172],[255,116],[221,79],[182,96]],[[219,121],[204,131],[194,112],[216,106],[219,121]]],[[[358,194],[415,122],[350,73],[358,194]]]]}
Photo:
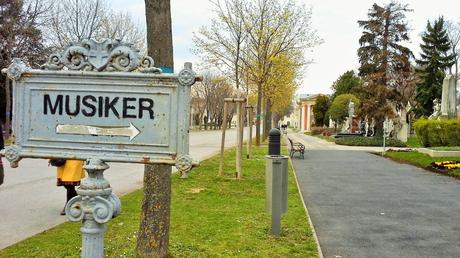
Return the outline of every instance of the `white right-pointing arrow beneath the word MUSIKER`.
{"type": "Polygon", "coordinates": [[[129,126],[99,127],[90,125],[57,125],[56,133],[59,134],[82,134],[103,136],[128,136],[131,141],[140,131],[133,123],[129,126]]]}

